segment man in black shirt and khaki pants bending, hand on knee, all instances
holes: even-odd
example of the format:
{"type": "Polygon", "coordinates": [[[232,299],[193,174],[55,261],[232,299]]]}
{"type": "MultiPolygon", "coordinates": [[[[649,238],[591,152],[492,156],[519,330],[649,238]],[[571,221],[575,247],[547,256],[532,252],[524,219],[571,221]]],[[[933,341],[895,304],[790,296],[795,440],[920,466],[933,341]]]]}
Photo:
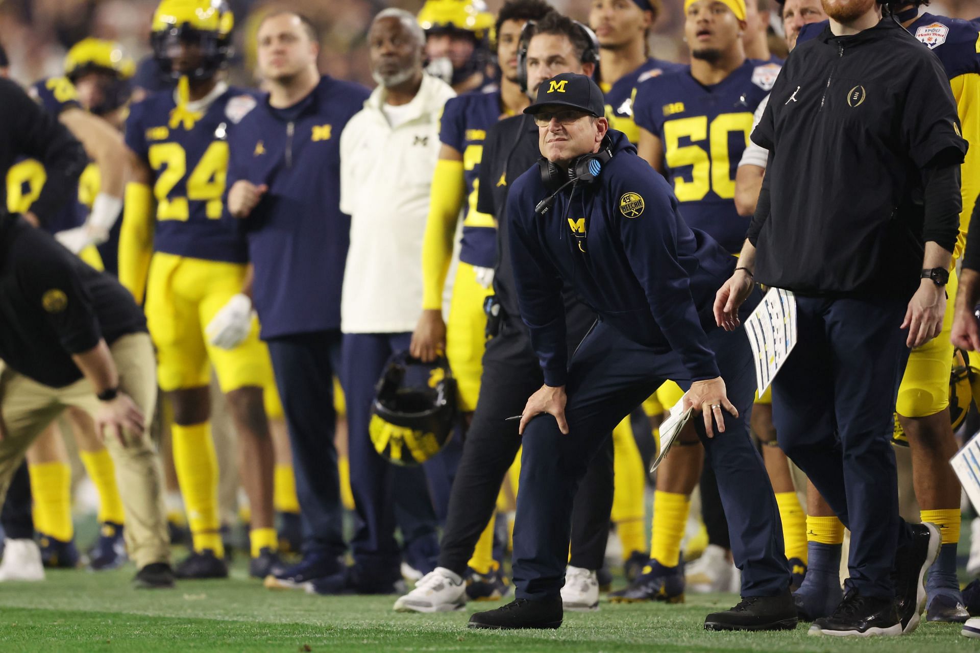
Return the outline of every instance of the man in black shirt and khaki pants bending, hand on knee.
{"type": "Polygon", "coordinates": [[[0,218],[0,499],[30,443],[88,413],[124,488],[137,587],[172,587],[163,479],[146,431],[157,398],[146,321],[123,286],[20,217],[0,218]]]}

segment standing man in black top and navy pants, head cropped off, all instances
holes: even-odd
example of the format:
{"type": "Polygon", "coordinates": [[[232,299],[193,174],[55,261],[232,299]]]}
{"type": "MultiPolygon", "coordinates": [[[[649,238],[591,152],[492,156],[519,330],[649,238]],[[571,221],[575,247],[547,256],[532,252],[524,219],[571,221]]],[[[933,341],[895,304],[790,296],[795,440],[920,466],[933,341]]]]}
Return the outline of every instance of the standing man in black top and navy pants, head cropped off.
{"type": "Polygon", "coordinates": [[[899,517],[892,412],[909,348],[942,330],[966,143],[935,56],[874,0],[825,9],[753,132],[768,174],[714,313],[736,327],[756,281],[797,294],[773,423],[852,537],[844,600],[811,631],[897,635],[918,626],[940,539],[899,517]]]}

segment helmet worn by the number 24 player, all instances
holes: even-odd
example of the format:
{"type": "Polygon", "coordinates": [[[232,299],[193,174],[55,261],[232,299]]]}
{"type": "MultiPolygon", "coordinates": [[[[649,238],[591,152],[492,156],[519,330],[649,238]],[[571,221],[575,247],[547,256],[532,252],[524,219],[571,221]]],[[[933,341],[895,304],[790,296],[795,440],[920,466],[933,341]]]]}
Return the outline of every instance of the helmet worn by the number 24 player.
{"type": "Polygon", "coordinates": [[[171,48],[179,43],[200,47],[201,64],[188,76],[207,79],[227,63],[233,25],[225,0],[163,0],[153,15],[150,43],[160,67],[174,77],[179,74],[172,70],[171,48]]]}

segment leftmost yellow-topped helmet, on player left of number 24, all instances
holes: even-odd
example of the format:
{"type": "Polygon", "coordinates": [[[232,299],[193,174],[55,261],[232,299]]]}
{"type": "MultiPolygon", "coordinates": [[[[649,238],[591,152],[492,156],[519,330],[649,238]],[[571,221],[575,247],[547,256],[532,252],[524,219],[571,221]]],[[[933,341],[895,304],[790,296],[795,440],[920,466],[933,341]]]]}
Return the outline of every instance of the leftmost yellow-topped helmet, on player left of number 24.
{"type": "Polygon", "coordinates": [[[84,75],[105,75],[102,86],[102,102],[89,110],[96,116],[104,116],[122,107],[132,94],[132,75],[136,64],[123,52],[123,46],[104,38],[85,38],[72,46],[65,56],[65,76],[72,83],[84,75]]]}

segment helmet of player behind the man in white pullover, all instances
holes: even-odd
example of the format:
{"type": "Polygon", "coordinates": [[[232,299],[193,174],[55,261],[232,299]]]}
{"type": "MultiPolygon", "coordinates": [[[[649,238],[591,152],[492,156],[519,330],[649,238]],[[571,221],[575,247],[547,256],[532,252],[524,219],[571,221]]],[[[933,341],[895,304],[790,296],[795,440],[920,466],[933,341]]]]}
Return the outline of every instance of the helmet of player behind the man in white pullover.
{"type": "Polygon", "coordinates": [[[448,61],[429,62],[427,70],[431,75],[456,85],[490,62],[495,20],[483,0],[425,0],[417,19],[426,36],[466,33],[473,39],[473,53],[466,65],[456,68],[448,61]]]}

